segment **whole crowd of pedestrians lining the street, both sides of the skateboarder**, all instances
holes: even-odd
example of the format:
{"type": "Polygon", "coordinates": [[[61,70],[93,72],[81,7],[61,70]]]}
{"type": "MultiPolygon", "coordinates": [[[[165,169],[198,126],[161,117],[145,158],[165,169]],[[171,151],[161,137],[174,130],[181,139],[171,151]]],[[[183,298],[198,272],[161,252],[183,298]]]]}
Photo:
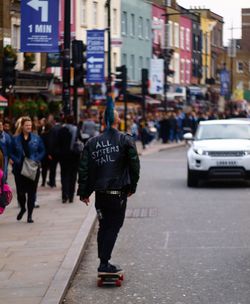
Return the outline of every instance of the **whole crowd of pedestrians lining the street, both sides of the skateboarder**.
{"type": "MultiPolygon", "coordinates": [[[[8,179],[8,167],[15,178],[17,201],[20,211],[17,220],[21,220],[27,209],[27,222],[32,223],[33,209],[36,204],[37,188],[61,186],[62,203],[73,203],[80,154],[86,141],[103,131],[100,116],[86,118],[78,125],[72,116],[61,117],[49,115],[46,118],[31,119],[20,117],[16,121],[0,119],[0,169],[4,181],[8,179]],[[35,178],[32,180],[22,175],[24,159],[28,158],[40,164],[35,178]],[[61,185],[56,183],[56,172],[60,166],[61,185]]],[[[119,125],[124,130],[124,118],[119,125]]],[[[179,142],[186,132],[195,133],[200,121],[209,119],[248,117],[246,112],[234,111],[225,113],[196,112],[182,110],[168,113],[150,113],[146,118],[129,113],[127,132],[135,141],[141,141],[146,148],[153,140],[162,143],[179,142]]]]}

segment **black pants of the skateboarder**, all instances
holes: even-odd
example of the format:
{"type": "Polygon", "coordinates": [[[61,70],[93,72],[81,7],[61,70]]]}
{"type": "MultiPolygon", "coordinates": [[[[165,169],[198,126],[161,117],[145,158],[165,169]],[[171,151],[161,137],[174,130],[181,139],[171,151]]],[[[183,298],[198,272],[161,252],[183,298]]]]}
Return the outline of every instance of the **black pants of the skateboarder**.
{"type": "Polygon", "coordinates": [[[127,205],[127,195],[114,195],[96,192],[95,207],[101,212],[97,234],[98,258],[108,262],[115,242],[123,225],[127,205]]]}

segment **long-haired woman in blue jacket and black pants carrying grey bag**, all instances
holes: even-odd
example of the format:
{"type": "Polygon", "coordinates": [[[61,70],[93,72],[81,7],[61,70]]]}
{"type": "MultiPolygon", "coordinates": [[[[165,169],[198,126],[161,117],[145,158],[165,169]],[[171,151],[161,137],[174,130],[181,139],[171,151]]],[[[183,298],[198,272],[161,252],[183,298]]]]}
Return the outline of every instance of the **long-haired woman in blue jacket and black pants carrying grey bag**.
{"type": "Polygon", "coordinates": [[[22,117],[16,134],[19,135],[13,137],[11,159],[13,161],[17,200],[21,208],[17,215],[17,220],[20,221],[26,212],[27,202],[27,222],[33,223],[32,213],[36,199],[39,168],[37,169],[35,180],[22,175],[22,168],[25,157],[40,163],[45,156],[45,148],[42,139],[32,133],[32,120],[29,117],[22,117]]]}

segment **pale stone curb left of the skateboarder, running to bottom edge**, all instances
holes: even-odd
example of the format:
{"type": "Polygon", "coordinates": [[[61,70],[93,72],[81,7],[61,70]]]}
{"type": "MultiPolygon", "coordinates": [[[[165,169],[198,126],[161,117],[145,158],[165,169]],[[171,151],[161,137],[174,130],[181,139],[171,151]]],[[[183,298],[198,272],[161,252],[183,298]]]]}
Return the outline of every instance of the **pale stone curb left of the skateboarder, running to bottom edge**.
{"type": "Polygon", "coordinates": [[[68,291],[84,254],[89,236],[96,222],[95,204],[91,202],[90,210],[72,242],[59,270],[55,274],[40,304],[61,304],[68,291]]]}

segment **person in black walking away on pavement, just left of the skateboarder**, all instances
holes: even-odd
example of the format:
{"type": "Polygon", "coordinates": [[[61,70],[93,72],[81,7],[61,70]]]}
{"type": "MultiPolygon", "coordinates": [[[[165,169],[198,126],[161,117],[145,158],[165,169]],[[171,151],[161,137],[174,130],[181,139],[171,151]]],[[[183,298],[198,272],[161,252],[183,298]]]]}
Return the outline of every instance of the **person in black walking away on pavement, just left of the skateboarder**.
{"type": "Polygon", "coordinates": [[[58,132],[58,148],[60,151],[62,203],[73,203],[80,154],[73,147],[77,140],[78,130],[74,125],[74,117],[67,116],[65,124],[58,132]]]}

